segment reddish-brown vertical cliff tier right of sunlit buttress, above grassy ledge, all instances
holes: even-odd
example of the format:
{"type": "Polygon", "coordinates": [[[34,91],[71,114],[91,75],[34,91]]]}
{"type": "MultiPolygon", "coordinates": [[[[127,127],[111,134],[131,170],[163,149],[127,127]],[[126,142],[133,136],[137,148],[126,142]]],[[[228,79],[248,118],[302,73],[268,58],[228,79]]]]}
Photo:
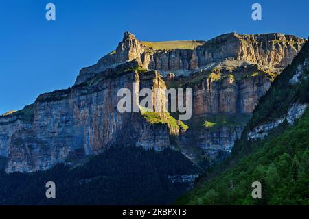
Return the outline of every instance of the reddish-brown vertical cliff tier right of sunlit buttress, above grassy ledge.
{"type": "Polygon", "coordinates": [[[257,75],[237,81],[225,77],[220,81],[205,78],[194,83],[193,114],[251,114],[258,100],[271,86],[266,75],[257,75]]]}

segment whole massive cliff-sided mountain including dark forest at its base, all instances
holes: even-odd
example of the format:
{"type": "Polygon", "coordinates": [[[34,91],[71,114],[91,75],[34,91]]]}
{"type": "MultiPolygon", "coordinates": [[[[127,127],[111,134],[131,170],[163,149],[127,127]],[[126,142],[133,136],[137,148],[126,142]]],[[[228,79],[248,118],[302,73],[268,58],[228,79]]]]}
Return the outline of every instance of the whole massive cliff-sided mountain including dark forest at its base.
{"type": "MultiPolygon", "coordinates": [[[[126,32],[115,51],[80,70],[71,88],[41,94],[23,110],[0,116],[0,199],[43,204],[45,193],[36,188],[49,179],[80,196],[64,192],[62,203],[47,204],[172,203],[244,138],[255,106],[305,42],[236,33],[207,42],[144,42],[126,32]],[[133,95],[137,112],[117,109],[122,88],[133,95]],[[191,88],[192,117],[179,120],[163,106],[145,111],[137,101],[143,88],[191,88]],[[20,181],[25,183],[15,184],[20,181]],[[128,197],[139,185],[143,190],[128,197]]],[[[151,96],[154,106],[167,99],[164,92],[151,96]]],[[[301,107],[295,103],[295,115],[301,107]]]]}

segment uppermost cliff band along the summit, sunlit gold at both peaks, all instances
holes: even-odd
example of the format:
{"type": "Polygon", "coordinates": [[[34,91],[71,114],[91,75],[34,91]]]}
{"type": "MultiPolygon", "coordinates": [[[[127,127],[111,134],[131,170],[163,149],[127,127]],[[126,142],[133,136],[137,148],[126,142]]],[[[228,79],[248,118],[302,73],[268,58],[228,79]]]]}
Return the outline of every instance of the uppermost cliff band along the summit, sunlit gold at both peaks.
{"type": "Polygon", "coordinates": [[[305,40],[292,35],[224,34],[205,42],[195,49],[152,49],[126,32],[117,49],[99,60],[98,64],[83,68],[76,84],[87,79],[87,75],[100,73],[106,68],[138,60],[146,68],[159,70],[163,75],[174,72],[188,75],[209,68],[225,59],[246,60],[271,68],[287,66],[297,54],[305,40]]]}

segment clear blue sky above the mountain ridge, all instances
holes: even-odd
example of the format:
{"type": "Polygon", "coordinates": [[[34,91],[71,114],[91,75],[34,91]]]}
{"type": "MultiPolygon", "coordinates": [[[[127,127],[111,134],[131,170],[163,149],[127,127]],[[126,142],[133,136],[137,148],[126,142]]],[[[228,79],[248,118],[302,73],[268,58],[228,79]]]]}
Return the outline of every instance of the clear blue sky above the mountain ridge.
{"type": "Polygon", "coordinates": [[[308,38],[308,2],[0,0],[0,114],[72,86],[80,68],[113,51],[124,31],[149,41],[232,31],[308,38]],[[56,5],[56,21],[46,21],[47,3],[56,5]],[[262,5],[262,21],[251,19],[253,3],[262,5]]]}

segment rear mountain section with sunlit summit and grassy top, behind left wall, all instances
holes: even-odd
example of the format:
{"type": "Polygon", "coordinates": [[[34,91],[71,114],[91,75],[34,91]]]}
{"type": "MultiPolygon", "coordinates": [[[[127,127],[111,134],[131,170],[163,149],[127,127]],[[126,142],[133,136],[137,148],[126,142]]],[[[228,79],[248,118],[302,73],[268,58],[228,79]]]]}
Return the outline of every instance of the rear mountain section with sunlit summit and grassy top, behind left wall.
{"type": "Polygon", "coordinates": [[[178,146],[205,166],[205,159],[214,163],[231,152],[258,100],[304,42],[284,34],[236,33],[207,42],[144,42],[127,32],[115,51],[80,71],[76,84],[135,59],[163,75],[167,88],[192,88],[192,119],[185,121],[189,129],[178,146]]]}

